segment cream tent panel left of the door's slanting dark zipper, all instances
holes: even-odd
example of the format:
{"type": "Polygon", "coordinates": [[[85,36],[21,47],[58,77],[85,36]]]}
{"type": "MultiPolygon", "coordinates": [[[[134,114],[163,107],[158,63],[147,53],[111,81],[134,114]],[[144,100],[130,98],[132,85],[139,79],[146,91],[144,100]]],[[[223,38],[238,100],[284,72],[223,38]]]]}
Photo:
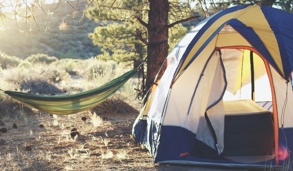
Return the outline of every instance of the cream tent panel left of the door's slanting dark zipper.
{"type": "MultiPolygon", "coordinates": [[[[202,69],[206,64],[208,57],[213,53],[215,45],[216,37],[211,40],[186,71],[184,71],[178,78],[174,85],[172,85],[163,125],[184,127],[194,89],[200,75],[202,74],[202,69]]],[[[196,130],[194,133],[196,133],[196,130]]]]}

